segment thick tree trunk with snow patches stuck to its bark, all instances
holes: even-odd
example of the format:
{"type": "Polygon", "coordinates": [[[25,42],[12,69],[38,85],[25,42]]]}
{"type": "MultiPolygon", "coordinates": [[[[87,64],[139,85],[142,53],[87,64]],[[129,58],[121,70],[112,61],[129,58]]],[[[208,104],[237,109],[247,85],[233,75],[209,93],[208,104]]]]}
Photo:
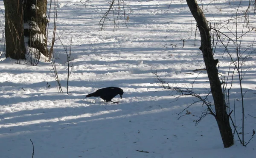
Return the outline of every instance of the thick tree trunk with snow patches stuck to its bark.
{"type": "Polygon", "coordinates": [[[48,56],[47,0],[24,0],[24,35],[31,53],[48,56]]]}

